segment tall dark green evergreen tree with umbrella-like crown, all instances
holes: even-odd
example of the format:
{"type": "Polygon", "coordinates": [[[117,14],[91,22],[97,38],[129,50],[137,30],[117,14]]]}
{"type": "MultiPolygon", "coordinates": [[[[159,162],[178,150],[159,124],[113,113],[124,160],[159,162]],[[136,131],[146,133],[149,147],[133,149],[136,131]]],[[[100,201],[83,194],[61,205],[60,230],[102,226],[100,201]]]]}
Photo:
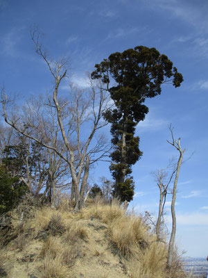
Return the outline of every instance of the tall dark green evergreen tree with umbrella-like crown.
{"type": "Polygon", "coordinates": [[[139,137],[134,137],[135,126],[148,113],[148,107],[143,103],[146,97],[160,95],[163,83],[179,87],[183,81],[182,74],[177,72],[166,55],[143,46],[111,54],[95,68],[92,79],[101,79],[106,84],[116,106],[104,115],[105,120],[112,124],[114,152],[111,158],[114,163],[110,170],[115,179],[114,195],[121,201],[130,201],[134,195],[131,167],[142,155],[139,137]],[[110,87],[112,79],[116,84],[110,87]]]}

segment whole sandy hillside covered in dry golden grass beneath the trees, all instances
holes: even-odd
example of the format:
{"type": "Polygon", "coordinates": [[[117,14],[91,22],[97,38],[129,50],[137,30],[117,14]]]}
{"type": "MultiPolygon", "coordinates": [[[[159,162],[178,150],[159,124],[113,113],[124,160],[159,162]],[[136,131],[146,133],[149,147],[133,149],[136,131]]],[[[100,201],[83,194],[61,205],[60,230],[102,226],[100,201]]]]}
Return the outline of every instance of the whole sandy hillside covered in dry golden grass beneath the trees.
{"type": "Polygon", "coordinates": [[[144,220],[116,203],[89,202],[78,213],[67,202],[21,204],[0,233],[0,277],[184,277],[177,256],[166,270],[167,246],[144,220]]]}

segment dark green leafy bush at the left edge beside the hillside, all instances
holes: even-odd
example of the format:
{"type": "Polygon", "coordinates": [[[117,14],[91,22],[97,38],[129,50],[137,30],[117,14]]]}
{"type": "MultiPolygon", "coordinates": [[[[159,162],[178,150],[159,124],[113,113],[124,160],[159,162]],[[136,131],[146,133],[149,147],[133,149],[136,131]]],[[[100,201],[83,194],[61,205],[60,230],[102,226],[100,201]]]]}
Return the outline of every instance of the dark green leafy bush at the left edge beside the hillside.
{"type": "Polygon", "coordinates": [[[0,167],[0,214],[10,211],[27,192],[26,186],[19,182],[18,177],[11,177],[0,167]]]}

